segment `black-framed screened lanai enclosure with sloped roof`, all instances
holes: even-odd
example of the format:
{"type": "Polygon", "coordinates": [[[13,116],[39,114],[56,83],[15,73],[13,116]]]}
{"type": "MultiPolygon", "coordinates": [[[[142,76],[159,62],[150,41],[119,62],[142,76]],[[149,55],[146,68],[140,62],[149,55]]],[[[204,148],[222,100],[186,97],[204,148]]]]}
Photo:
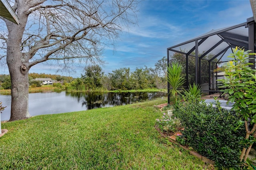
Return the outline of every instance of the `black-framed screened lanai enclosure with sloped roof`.
{"type": "MultiPolygon", "coordinates": [[[[256,52],[256,24],[253,17],[246,22],[227,28],[211,30],[184,43],[167,48],[167,64],[182,63],[186,75],[186,88],[193,83],[200,84],[204,92],[218,92],[217,79],[223,79],[222,66],[230,61],[232,48],[244,47],[256,52]]],[[[255,68],[255,56],[250,56],[250,65],[255,68]]],[[[171,87],[168,83],[168,94],[171,87]]],[[[170,103],[170,95],[168,95],[170,103]]]]}

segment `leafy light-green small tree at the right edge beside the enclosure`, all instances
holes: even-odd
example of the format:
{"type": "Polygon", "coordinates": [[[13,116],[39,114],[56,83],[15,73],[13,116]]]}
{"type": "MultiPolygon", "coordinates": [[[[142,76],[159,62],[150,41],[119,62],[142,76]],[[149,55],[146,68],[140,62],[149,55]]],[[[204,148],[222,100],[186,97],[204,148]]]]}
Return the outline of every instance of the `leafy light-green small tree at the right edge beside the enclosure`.
{"type": "MultiPolygon", "coordinates": [[[[228,102],[235,102],[232,109],[244,118],[246,136],[245,139],[256,141],[256,70],[248,67],[250,64],[249,55],[256,55],[256,53],[248,53],[244,49],[236,47],[233,49],[234,53],[230,54],[233,60],[226,65],[225,74],[226,79],[220,79],[223,83],[222,90],[224,94],[228,94],[228,102]],[[251,127],[251,129],[250,129],[251,127]]],[[[247,156],[252,147],[243,148],[240,161],[246,161],[247,156]]]]}

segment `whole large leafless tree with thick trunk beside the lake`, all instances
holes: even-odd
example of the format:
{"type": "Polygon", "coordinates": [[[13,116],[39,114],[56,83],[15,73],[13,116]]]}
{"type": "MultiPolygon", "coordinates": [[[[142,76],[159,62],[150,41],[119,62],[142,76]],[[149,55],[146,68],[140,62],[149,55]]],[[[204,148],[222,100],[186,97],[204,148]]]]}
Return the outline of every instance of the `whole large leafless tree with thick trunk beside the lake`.
{"type": "Polygon", "coordinates": [[[30,117],[32,66],[56,60],[61,69],[72,70],[72,63],[102,63],[104,45],[114,43],[118,33],[134,23],[136,4],[135,0],[15,0],[12,9],[20,25],[2,18],[7,30],[0,33],[1,53],[6,53],[0,58],[6,57],[12,82],[10,121],[30,117]]]}

